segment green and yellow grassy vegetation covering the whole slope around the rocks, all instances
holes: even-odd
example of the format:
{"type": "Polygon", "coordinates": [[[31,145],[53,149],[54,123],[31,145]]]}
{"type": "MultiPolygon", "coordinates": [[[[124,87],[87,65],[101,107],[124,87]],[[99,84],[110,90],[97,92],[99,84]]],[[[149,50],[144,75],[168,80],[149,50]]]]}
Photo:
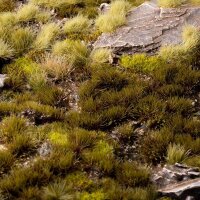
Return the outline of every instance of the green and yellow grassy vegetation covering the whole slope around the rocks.
{"type": "Polygon", "coordinates": [[[0,199],[154,200],[156,165],[200,167],[200,31],[112,65],[88,44],[143,1],[103,2],[0,0],[0,199]]]}

